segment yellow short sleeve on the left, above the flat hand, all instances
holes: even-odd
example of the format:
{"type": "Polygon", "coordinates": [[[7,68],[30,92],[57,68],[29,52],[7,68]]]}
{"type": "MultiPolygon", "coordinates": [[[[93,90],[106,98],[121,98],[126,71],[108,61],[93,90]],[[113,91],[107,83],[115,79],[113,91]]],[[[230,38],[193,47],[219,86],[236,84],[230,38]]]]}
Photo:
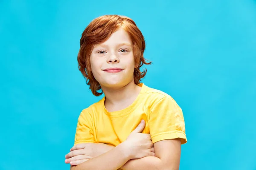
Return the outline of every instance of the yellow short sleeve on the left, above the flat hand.
{"type": "Polygon", "coordinates": [[[76,126],[75,144],[95,142],[93,133],[92,116],[86,111],[82,111],[76,126]]]}

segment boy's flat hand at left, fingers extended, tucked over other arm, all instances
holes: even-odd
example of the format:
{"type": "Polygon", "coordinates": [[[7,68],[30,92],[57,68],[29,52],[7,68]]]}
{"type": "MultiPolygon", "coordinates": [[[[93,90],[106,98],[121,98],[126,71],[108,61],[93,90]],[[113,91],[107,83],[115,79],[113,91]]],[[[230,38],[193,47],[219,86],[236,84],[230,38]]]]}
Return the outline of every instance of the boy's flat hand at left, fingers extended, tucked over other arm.
{"type": "Polygon", "coordinates": [[[88,159],[93,159],[96,156],[108,152],[110,149],[112,149],[112,147],[101,143],[76,144],[70,149],[70,153],[65,156],[65,163],[70,163],[71,165],[79,165],[88,159]]]}

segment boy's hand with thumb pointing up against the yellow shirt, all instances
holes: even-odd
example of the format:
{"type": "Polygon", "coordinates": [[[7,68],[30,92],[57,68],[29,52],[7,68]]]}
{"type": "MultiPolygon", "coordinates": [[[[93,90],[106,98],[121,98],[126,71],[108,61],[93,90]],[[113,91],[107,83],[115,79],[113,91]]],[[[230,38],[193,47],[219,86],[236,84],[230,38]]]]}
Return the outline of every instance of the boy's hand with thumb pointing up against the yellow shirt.
{"type": "Polygon", "coordinates": [[[154,156],[154,147],[150,134],[141,133],[145,127],[145,121],[130,133],[124,144],[124,148],[130,159],[139,159],[145,156],[154,156]]]}

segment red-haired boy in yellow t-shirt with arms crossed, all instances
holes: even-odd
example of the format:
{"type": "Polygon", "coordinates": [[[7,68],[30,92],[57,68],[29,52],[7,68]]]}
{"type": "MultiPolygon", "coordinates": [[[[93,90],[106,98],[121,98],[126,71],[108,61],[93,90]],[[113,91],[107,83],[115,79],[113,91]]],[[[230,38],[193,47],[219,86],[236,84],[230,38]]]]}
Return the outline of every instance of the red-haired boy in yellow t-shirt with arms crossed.
{"type": "Polygon", "coordinates": [[[146,74],[140,67],[151,64],[144,50],[128,17],[101,16],[85,28],[79,70],[92,93],[105,97],[79,116],[75,145],[65,156],[71,170],[179,169],[183,113],[171,96],[140,83],[146,74]]]}

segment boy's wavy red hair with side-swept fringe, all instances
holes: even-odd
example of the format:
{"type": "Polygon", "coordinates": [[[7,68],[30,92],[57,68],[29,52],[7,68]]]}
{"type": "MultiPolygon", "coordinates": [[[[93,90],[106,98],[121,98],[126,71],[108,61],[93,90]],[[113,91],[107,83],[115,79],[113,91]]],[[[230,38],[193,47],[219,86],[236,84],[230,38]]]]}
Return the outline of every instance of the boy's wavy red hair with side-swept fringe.
{"type": "Polygon", "coordinates": [[[141,72],[140,67],[143,64],[151,64],[151,62],[146,62],[143,57],[145,51],[143,34],[131,18],[119,15],[104,15],[94,19],[82,33],[77,60],[79,71],[81,71],[84,78],[86,78],[86,83],[90,85],[90,90],[95,96],[100,96],[102,91],[97,92],[101,90],[101,86],[93,77],[90,66],[90,55],[94,45],[108,40],[111,34],[119,28],[123,28],[129,34],[133,42],[135,65],[138,65],[138,67],[134,69],[135,84],[139,84],[140,80],[145,77],[147,72],[147,69],[141,72]]]}

